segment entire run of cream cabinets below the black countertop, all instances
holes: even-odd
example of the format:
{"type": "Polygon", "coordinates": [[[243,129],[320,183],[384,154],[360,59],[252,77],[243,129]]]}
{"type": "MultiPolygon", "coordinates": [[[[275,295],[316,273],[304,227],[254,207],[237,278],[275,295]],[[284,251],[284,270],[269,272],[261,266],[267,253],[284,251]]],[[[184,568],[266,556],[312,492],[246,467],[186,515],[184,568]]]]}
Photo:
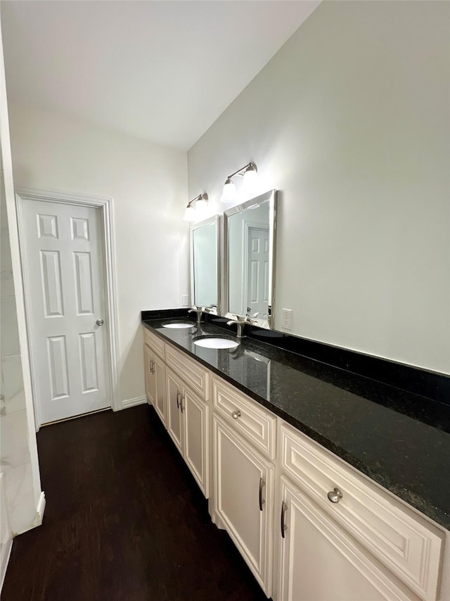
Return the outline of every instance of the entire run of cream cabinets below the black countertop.
{"type": "Polygon", "coordinates": [[[149,402],[268,597],[447,601],[441,528],[200,361],[144,337],[149,402]]]}

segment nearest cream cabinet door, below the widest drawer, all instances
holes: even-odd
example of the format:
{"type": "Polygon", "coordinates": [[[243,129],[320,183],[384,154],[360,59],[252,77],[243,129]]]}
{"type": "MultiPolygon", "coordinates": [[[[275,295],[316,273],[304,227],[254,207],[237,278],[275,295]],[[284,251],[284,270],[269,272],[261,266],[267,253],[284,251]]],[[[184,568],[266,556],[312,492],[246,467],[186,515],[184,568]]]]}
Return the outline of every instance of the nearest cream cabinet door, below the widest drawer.
{"type": "Polygon", "coordinates": [[[279,600],[418,600],[401,583],[397,586],[383,566],[284,476],[278,507],[279,600]]]}

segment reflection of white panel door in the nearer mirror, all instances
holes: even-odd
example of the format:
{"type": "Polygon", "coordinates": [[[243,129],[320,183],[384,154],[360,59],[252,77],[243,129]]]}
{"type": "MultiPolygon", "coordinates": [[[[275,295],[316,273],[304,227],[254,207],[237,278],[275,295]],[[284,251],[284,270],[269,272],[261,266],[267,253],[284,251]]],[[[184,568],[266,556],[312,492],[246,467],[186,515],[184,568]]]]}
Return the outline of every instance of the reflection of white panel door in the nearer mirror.
{"type": "Polygon", "coordinates": [[[269,228],[248,225],[245,309],[266,319],[269,313],[269,228]]]}

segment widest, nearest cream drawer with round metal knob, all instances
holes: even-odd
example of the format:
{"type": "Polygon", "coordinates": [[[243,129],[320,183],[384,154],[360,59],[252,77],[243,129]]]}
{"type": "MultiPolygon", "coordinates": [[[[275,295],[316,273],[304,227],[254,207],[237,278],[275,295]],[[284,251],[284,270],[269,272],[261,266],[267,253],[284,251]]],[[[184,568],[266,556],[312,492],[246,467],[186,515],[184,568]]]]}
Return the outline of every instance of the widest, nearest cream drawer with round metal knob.
{"type": "Polygon", "coordinates": [[[287,424],[280,440],[283,470],[411,590],[434,601],[443,533],[287,424]],[[335,488],[342,498],[333,503],[327,495],[335,488]]]}

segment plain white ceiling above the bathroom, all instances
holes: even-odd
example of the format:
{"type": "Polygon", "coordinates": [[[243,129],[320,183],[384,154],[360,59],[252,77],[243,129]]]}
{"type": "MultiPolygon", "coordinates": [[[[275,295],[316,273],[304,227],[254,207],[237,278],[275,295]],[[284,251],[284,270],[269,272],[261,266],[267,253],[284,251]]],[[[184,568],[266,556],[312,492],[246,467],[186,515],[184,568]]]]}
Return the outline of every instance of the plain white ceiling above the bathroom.
{"type": "Polygon", "coordinates": [[[319,0],[2,0],[8,99],[189,149],[319,0]]]}

